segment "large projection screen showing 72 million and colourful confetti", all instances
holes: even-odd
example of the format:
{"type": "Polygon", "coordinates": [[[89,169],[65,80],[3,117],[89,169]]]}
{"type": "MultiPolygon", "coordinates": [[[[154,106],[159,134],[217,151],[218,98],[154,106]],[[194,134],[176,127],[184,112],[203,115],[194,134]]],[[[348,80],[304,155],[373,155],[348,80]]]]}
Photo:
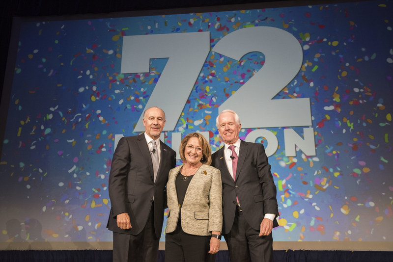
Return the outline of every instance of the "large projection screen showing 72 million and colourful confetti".
{"type": "Polygon", "coordinates": [[[393,250],[392,5],[15,19],[0,248],[111,249],[112,155],[156,105],[177,164],[182,137],[201,132],[215,152],[216,117],[238,112],[272,165],[275,249],[393,250]]]}

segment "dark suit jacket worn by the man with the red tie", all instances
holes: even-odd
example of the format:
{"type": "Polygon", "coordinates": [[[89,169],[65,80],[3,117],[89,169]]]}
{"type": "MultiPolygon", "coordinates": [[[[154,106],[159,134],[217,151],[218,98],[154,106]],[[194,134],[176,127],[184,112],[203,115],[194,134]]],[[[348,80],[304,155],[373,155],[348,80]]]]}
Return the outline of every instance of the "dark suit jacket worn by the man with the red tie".
{"type": "MultiPolygon", "coordinates": [[[[212,155],[212,166],[220,169],[223,182],[223,234],[229,233],[236,212],[236,195],[243,215],[253,229],[260,229],[266,213],[279,214],[276,185],[262,144],[241,140],[236,168],[236,182],[229,174],[224,147],[212,155]]],[[[273,227],[277,227],[273,220],[273,227]]]]}

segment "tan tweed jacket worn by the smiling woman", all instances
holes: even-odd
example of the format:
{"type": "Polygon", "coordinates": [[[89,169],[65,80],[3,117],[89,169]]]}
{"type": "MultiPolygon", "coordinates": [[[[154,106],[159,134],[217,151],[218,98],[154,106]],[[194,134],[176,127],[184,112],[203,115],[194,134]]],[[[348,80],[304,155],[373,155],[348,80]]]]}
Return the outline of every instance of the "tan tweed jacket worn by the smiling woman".
{"type": "MultiPolygon", "coordinates": [[[[177,166],[169,171],[167,183],[168,221],[165,233],[171,233],[176,229],[180,207],[177,202],[175,181],[182,166],[177,166]]],[[[221,232],[223,227],[222,194],[220,170],[202,164],[187,188],[181,207],[183,231],[197,236],[210,236],[212,231],[221,232]]]]}

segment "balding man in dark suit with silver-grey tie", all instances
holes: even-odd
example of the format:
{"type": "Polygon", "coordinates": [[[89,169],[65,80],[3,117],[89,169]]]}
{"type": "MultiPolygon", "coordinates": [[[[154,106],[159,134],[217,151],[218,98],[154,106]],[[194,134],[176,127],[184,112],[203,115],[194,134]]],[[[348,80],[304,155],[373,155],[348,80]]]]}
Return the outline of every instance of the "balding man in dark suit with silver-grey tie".
{"type": "Polygon", "coordinates": [[[165,113],[150,107],[143,113],[145,132],[122,137],[109,175],[114,262],[156,262],[166,206],[169,170],[176,153],[161,142],[165,113]]]}

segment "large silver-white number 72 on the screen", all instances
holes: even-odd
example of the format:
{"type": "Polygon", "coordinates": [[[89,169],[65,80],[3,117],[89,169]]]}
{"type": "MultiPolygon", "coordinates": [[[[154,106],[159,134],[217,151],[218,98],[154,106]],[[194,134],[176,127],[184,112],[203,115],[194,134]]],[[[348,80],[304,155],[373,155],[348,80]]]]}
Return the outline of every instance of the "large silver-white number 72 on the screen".
{"type": "MultiPolygon", "coordinates": [[[[303,51],[290,33],[275,27],[246,27],[227,34],[212,50],[235,60],[265,55],[263,67],[219,107],[235,110],[243,128],[311,126],[309,98],[273,99],[299,72],[303,51]]],[[[164,131],[173,131],[210,52],[210,32],[125,36],[121,73],[148,73],[151,58],[168,58],[146,108],[161,107],[164,131]]],[[[134,131],[144,131],[142,115],[134,131]]]]}

